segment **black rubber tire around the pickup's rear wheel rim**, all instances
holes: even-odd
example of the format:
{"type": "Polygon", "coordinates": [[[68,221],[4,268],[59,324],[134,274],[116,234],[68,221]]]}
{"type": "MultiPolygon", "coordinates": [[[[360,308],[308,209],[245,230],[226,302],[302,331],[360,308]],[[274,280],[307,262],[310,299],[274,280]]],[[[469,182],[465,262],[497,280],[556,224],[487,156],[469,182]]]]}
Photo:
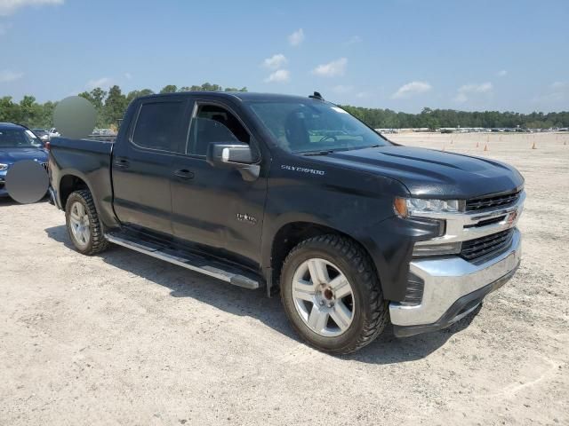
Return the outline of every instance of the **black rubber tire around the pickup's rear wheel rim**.
{"type": "Polygon", "coordinates": [[[68,228],[69,239],[79,253],[92,256],[108,248],[108,241],[103,235],[99,215],[97,215],[97,209],[95,209],[95,203],[92,201],[92,195],[89,190],[82,189],[68,196],[68,201],[65,204],[65,222],[68,228]],[[71,208],[76,202],[84,206],[84,211],[87,217],[89,217],[89,241],[86,244],[78,241],[71,230],[71,208]]]}

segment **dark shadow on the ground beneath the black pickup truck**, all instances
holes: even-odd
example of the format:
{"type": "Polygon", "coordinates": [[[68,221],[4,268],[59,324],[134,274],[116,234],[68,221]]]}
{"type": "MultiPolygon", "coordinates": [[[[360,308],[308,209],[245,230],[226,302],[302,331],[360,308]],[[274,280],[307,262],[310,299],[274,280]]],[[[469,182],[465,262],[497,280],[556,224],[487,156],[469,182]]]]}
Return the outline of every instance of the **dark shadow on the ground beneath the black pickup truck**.
{"type": "MultiPolygon", "coordinates": [[[[65,225],[47,228],[45,233],[52,240],[74,249],[68,239],[65,225]]],[[[192,297],[233,315],[259,319],[268,327],[301,343],[288,324],[280,298],[278,296],[268,298],[264,289],[252,291],[231,286],[220,280],[116,245],[111,245],[107,251],[97,256],[107,264],[169,288],[172,297],[192,297]]],[[[378,339],[364,349],[339,358],[370,364],[396,364],[423,359],[431,352],[437,351],[455,333],[468,327],[479,309],[452,327],[427,335],[398,339],[388,326],[378,339]]]]}

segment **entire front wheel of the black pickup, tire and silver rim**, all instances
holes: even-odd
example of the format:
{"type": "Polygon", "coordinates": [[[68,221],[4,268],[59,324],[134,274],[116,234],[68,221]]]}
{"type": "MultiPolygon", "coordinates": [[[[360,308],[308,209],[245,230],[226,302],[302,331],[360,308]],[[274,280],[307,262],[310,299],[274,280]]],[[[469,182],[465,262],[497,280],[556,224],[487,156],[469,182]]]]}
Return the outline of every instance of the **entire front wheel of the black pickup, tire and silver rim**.
{"type": "Polygon", "coordinates": [[[388,321],[371,259],[338,235],[311,238],[293,248],[284,261],[281,296],[293,327],[321,351],[357,351],[388,321]]]}

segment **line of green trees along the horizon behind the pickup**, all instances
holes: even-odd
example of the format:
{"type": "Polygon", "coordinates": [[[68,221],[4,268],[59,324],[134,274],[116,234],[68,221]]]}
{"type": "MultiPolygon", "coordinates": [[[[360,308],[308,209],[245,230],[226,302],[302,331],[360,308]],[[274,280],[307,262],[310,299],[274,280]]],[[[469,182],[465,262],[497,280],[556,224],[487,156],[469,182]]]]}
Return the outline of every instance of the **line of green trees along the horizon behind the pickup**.
{"type": "MultiPolygon", "coordinates": [[[[223,88],[219,84],[204,83],[202,85],[183,86],[178,88],[169,84],[159,93],[174,93],[177,91],[247,91],[246,87],[223,88]]],[[[97,111],[97,128],[109,128],[116,125],[116,120],[122,118],[126,107],[132,99],[153,94],[150,89],[129,91],[124,94],[117,85],[105,91],[100,87],[92,91],[79,93],[88,99],[97,111]]],[[[44,104],[36,102],[36,98],[26,95],[20,102],[14,102],[12,97],[0,98],[0,122],[17,122],[28,127],[52,127],[53,110],[57,102],[47,101],[44,104]]],[[[396,112],[390,109],[365,108],[361,106],[342,106],[350,114],[354,114],[363,122],[375,129],[408,129],[441,127],[484,127],[484,128],[521,128],[549,129],[551,127],[569,127],[569,112],[520,114],[514,112],[483,111],[467,112],[453,109],[423,108],[420,114],[396,112]]]]}

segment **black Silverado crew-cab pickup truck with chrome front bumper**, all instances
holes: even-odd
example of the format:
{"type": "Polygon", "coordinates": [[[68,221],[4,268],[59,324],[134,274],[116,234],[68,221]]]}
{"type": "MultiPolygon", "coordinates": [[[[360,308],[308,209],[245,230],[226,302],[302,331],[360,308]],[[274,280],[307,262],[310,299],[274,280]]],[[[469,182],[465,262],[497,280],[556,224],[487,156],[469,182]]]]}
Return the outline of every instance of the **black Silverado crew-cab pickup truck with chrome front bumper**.
{"type": "Polygon", "coordinates": [[[399,146],[317,93],[135,99],[115,143],[52,139],[49,173],[81,253],[280,291],[322,351],[447,327],[520,262],[517,170],[399,146]]]}

